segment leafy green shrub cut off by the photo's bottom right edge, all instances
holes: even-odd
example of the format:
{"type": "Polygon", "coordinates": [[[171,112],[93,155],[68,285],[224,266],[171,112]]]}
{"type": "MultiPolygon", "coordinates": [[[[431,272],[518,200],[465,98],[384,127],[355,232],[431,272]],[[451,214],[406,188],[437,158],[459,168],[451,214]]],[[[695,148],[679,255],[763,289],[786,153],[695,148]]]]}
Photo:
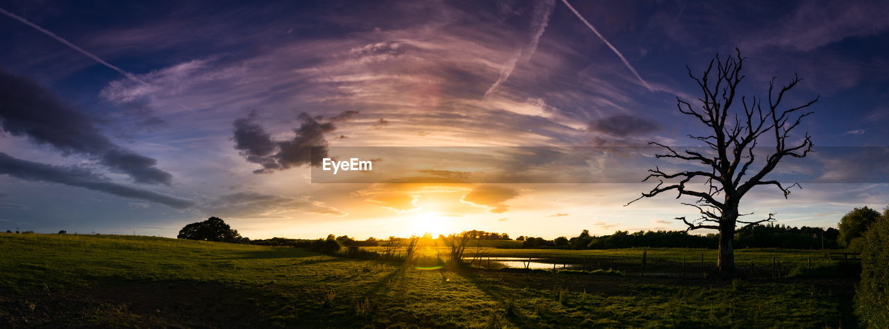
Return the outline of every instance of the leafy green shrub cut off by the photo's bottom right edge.
{"type": "Polygon", "coordinates": [[[889,327],[889,207],[864,234],[855,313],[871,328],[889,327]]]}

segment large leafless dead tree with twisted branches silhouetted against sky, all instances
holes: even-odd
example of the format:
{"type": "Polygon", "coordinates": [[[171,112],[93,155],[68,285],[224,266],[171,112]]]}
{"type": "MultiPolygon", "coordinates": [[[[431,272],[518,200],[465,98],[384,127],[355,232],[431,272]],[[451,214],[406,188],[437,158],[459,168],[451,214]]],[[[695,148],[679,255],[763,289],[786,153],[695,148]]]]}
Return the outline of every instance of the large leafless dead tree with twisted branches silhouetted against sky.
{"type": "Polygon", "coordinates": [[[688,135],[689,138],[706,145],[703,151],[685,149],[677,152],[660,143],[649,143],[665,150],[663,154],[656,155],[657,158],[685,160],[693,164],[703,164],[707,169],[678,173],[665,173],[658,167],[650,169],[648,171],[650,174],[644,181],[657,179],[660,183],[648,193],[642,193],[642,197],[629,202],[632,204],[644,197],[654,197],[672,190],[677,191],[677,198],[683,196],[698,198],[693,203],[683,203],[683,205],[696,208],[701,213],[701,218],[687,221],[685,217],[679,217],[677,220],[683,221],[688,226],[686,230],[719,231],[719,253],[715,273],[720,277],[735,275],[732,246],[734,234],[752,225],[774,221],[773,213],[758,221],[739,220],[739,216],[752,214],[739,213],[741,197],[759,185],[774,185],[781,189],[785,198],[790,194],[789,189],[800,187],[798,183],[785,187],[779,181],[765,180],[765,175],[771,173],[784,156],[805,157],[812,152],[812,136],[805,132],[804,136],[797,137],[792,132],[805,116],[813,113],[804,109],[819,100],[815,97],[814,100],[796,107],[782,106],[781,101],[784,100],[785,94],[802,79],[794,76],[789,84],[778,90],[773,77],[766,98],[768,103],[766,104],[761,97],[754,96],[748,101],[745,96],[741,96],[744,113],[739,117],[739,113],[733,111],[732,106],[735,103],[738,85],[744,79],[744,76],[741,76],[744,58],[741,57],[740,50],[735,49],[735,51],[735,56],[729,56],[725,60],[720,60],[717,54],[714,60],[710,60],[709,66],[700,78],[695,77],[692,69],[686,66],[688,76],[701,88],[703,98],[698,99],[700,104],[696,103],[693,106],[692,103],[677,97],[677,108],[682,114],[694,117],[709,128],[709,134],[706,136],[688,135]],[[714,63],[717,69],[716,81],[711,82],[710,78],[714,77],[711,76],[714,63]],[[774,149],[765,156],[765,162],[757,162],[757,156],[762,154],[757,156],[754,154],[754,148],[761,140],[764,143],[766,140],[774,142],[774,149]],[[788,142],[791,145],[788,145],[788,142]],[[748,170],[751,172],[748,173],[748,170]],[[747,181],[743,181],[745,176],[749,177],[747,181]],[[693,179],[695,181],[692,181],[693,179]],[[665,183],[665,180],[669,182],[665,183]],[[696,182],[702,183],[701,189],[693,189],[686,185],[696,182]],[[739,229],[738,224],[743,226],[739,229]]]}

